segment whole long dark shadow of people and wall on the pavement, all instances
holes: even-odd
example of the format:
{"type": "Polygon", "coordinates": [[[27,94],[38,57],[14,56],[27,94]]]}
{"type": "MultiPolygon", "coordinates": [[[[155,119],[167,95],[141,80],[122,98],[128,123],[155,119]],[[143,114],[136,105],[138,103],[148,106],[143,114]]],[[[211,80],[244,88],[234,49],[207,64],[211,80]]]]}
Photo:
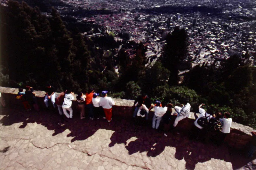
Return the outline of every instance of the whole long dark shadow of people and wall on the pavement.
{"type": "MultiPolygon", "coordinates": [[[[0,120],[2,126],[22,122],[19,128],[25,128],[28,123],[36,122],[48,130],[53,130],[53,136],[68,129],[70,133],[67,137],[73,137],[71,142],[85,140],[99,129],[112,130],[114,133],[110,137],[109,147],[124,143],[130,155],[136,152],[147,152],[147,156],[156,157],[164,152],[166,147],[173,147],[176,149],[174,157],[178,160],[184,158],[187,169],[194,169],[198,162],[206,162],[212,158],[231,162],[233,169],[240,168],[253,160],[253,158],[244,158],[244,153],[230,149],[226,144],[218,147],[213,143],[191,141],[187,133],[180,133],[180,135],[168,133],[165,137],[163,132],[151,128],[151,122],[142,119],[131,120],[114,114],[113,120],[109,123],[105,119],[80,120],[79,113],[74,113],[72,119],[67,119],[63,115],[60,116],[57,111],[27,112],[13,108],[0,108],[0,112],[2,116],[4,115],[0,120]],[[127,143],[132,137],[137,139],[127,143]]],[[[170,155],[170,157],[173,156],[170,155]]]]}

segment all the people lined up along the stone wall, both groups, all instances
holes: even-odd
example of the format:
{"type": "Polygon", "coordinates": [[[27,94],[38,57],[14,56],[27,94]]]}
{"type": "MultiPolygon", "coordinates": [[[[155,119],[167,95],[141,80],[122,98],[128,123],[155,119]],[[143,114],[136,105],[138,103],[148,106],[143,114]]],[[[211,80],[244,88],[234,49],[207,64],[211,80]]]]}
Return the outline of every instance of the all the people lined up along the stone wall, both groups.
{"type": "MultiPolygon", "coordinates": [[[[26,86],[26,91],[19,89],[17,99],[21,99],[26,110],[31,110],[31,106],[34,107],[36,111],[39,111],[39,107],[36,101],[35,93],[33,88],[26,86]]],[[[91,120],[104,118],[108,122],[112,120],[112,106],[115,102],[111,97],[107,96],[108,91],[104,90],[101,92],[101,97],[99,93],[95,93],[94,89],[88,89],[86,94],[82,92],[76,96],[76,101],[80,109],[80,118],[85,118],[85,111],[91,120]]],[[[52,103],[53,108],[58,108],[60,115],[64,114],[67,118],[73,117],[72,101],[75,100],[74,93],[70,90],[65,90],[60,93],[60,95],[55,98],[55,88],[51,85],[47,85],[45,88],[44,103],[48,108],[49,104],[52,103]]],[[[230,113],[217,112],[216,114],[207,113],[202,107],[204,104],[199,105],[200,115],[194,122],[194,126],[191,129],[190,137],[191,139],[204,139],[209,141],[210,138],[217,139],[216,144],[222,143],[225,136],[230,133],[230,127],[232,119],[230,118],[230,113]],[[215,132],[215,133],[213,133],[215,132]],[[215,134],[215,136],[213,135],[215,134]],[[217,137],[216,137],[217,135],[217,137]]],[[[175,106],[175,112],[172,114],[172,104],[169,103],[166,106],[162,106],[161,102],[156,100],[155,104],[151,103],[150,98],[146,94],[142,94],[137,97],[134,102],[134,112],[133,118],[141,116],[148,120],[148,112],[154,108],[154,116],[152,120],[152,128],[158,129],[161,124],[164,126],[164,135],[167,136],[167,132],[172,131],[174,133],[179,133],[176,130],[180,120],[188,118],[190,115],[191,105],[187,102],[181,104],[180,106],[175,106]],[[174,123],[171,124],[172,115],[176,118],[174,123]]],[[[211,139],[211,140],[212,140],[211,139]]]]}

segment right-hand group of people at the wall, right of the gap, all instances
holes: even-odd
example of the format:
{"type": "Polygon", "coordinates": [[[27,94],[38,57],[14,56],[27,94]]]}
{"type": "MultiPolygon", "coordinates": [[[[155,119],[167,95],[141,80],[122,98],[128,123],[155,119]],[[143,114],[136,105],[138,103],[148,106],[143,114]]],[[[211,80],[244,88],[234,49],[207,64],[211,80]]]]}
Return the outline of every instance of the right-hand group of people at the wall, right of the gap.
{"type": "MultiPolygon", "coordinates": [[[[148,120],[148,112],[154,108],[152,128],[158,129],[162,123],[165,136],[167,136],[167,132],[169,131],[179,134],[176,127],[181,120],[189,117],[191,108],[191,105],[186,101],[185,104],[175,106],[174,113],[172,113],[171,103],[163,107],[161,102],[156,100],[155,104],[151,104],[151,100],[146,94],[137,97],[134,106],[133,118],[141,116],[145,120],[148,120]],[[172,115],[176,116],[176,118],[172,115]],[[171,120],[173,117],[175,120],[172,124],[171,122],[173,121],[171,120]]],[[[230,113],[225,112],[222,114],[221,112],[217,112],[215,114],[209,114],[202,108],[203,106],[204,104],[198,106],[200,115],[195,120],[193,128],[189,133],[190,139],[201,140],[203,142],[211,140],[215,144],[220,145],[226,135],[230,133],[232,124],[230,113]]]]}

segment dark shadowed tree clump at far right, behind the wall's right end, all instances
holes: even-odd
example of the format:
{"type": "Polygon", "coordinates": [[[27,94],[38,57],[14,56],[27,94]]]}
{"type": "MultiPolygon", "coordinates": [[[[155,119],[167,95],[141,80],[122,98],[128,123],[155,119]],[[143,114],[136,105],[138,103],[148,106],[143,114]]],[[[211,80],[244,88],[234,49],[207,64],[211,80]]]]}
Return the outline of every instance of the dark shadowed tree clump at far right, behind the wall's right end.
{"type": "Polygon", "coordinates": [[[234,54],[220,66],[195,66],[184,85],[194,89],[211,112],[230,111],[236,122],[256,127],[256,68],[248,55],[234,54]]]}

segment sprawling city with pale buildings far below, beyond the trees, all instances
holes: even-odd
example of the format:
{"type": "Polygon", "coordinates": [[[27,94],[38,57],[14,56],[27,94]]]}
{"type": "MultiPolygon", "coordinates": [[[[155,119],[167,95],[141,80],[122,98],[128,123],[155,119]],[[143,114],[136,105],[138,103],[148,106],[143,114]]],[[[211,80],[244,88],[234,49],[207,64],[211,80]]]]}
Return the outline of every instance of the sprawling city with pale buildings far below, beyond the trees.
{"type": "MultiPolygon", "coordinates": [[[[56,8],[63,18],[97,26],[83,32],[89,39],[112,35],[118,42],[147,46],[148,65],[161,56],[167,34],[174,27],[188,35],[188,56],[194,63],[221,60],[234,53],[255,55],[254,0],[53,0],[41,4],[56,8]]],[[[29,2],[28,2],[29,3],[29,2]]],[[[30,2],[31,4],[31,2],[30,2]]],[[[49,10],[42,10],[49,15],[49,10]]],[[[83,30],[80,30],[83,31],[83,30]]],[[[118,52],[122,46],[115,50],[118,52]]],[[[123,47],[125,48],[125,47],[123,47]]],[[[135,49],[125,49],[133,56],[135,49]]],[[[106,50],[106,52],[108,52],[106,50]]],[[[108,53],[107,53],[108,56],[108,53]]]]}

